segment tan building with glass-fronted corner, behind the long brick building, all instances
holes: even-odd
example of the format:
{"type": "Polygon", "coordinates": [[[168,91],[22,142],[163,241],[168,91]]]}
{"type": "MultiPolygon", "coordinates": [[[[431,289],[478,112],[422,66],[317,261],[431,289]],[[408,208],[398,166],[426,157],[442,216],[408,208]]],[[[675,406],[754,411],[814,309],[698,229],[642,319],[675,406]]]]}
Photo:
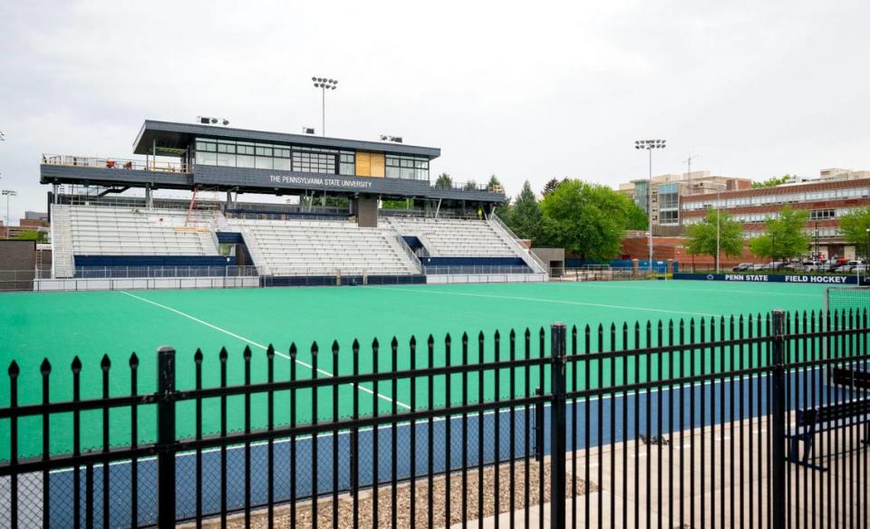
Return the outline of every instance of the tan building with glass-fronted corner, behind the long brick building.
{"type": "MultiPolygon", "coordinates": [[[[657,234],[672,231],[674,233],[668,235],[676,235],[678,230],[668,230],[667,226],[681,226],[680,204],[685,197],[751,187],[752,181],[749,178],[715,176],[706,170],[652,177],[653,231],[657,234]]],[[[649,188],[649,178],[637,178],[619,186],[619,190],[632,197],[647,214],[650,212],[649,188]]]]}

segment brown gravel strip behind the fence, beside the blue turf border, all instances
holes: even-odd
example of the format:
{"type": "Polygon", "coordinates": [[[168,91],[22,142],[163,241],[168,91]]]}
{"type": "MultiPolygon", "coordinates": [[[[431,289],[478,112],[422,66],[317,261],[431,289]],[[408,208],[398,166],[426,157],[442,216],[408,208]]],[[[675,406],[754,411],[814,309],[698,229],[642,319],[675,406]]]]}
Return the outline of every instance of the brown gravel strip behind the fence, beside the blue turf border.
{"type": "MultiPolygon", "coordinates": [[[[538,505],[540,503],[538,497],[539,487],[539,465],[535,461],[529,462],[529,505],[538,505]]],[[[469,470],[467,479],[468,486],[466,495],[468,499],[468,520],[478,519],[478,479],[479,472],[477,469],[469,470]]],[[[587,492],[595,492],[598,487],[594,484],[586,486],[584,480],[577,478],[576,489],[571,491],[570,472],[565,475],[567,490],[565,497],[573,497],[574,495],[585,495],[587,492]]],[[[510,467],[507,464],[499,466],[498,473],[498,512],[507,513],[510,510],[510,467]]],[[[514,509],[520,510],[526,506],[526,491],[525,491],[525,463],[517,461],[514,469],[515,495],[514,509]]],[[[544,503],[550,501],[549,498],[549,481],[550,481],[550,464],[547,461],[544,465],[544,503]]],[[[433,505],[433,524],[435,527],[444,527],[444,514],[447,501],[447,480],[444,476],[439,476],[432,480],[432,501],[433,505]]],[[[488,517],[495,515],[495,468],[488,466],[483,472],[483,516],[488,517]]],[[[429,520],[429,480],[428,478],[418,479],[415,483],[416,495],[416,525],[427,525],[429,520]]],[[[462,474],[455,472],[450,475],[450,515],[449,525],[462,522],[462,474]]],[[[391,527],[391,487],[382,486],[378,489],[378,520],[376,524],[372,524],[372,506],[373,495],[371,490],[367,490],[359,495],[359,524],[357,527],[362,529],[375,527],[391,527]]],[[[396,527],[400,529],[413,529],[411,525],[411,484],[404,483],[396,488],[396,527]]],[[[296,505],[296,524],[298,529],[307,529],[311,527],[312,509],[311,503],[305,502],[296,505]]],[[[338,518],[339,527],[353,528],[353,498],[350,495],[341,495],[338,500],[338,518]]],[[[251,527],[256,529],[267,527],[266,510],[261,509],[251,513],[251,527]]],[[[193,524],[179,525],[180,528],[189,529],[193,524]]],[[[214,529],[220,526],[218,519],[210,518],[204,520],[202,526],[206,529],[214,529]]],[[[333,501],[332,498],[325,498],[317,504],[317,526],[332,527],[333,526],[333,501]]],[[[231,529],[241,529],[245,527],[245,518],[243,515],[232,515],[227,519],[227,527],[231,529]]],[[[280,505],[275,507],[275,527],[283,528],[290,527],[290,506],[280,505]]]]}

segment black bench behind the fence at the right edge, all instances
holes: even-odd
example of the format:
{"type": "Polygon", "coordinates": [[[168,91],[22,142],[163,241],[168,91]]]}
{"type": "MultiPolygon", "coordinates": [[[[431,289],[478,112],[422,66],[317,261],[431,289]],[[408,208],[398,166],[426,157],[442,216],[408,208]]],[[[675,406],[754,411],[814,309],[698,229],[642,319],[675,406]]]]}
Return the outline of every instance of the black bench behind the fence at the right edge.
{"type": "MultiPolygon", "coordinates": [[[[851,376],[852,380],[855,380],[854,372],[840,372],[839,376],[851,376]]],[[[835,373],[832,378],[836,379],[836,377],[837,374],[835,373]]],[[[825,472],[827,470],[825,466],[818,466],[809,462],[813,453],[814,436],[817,433],[855,425],[864,425],[865,438],[863,443],[865,446],[870,447],[870,399],[855,399],[817,406],[811,409],[798,409],[797,424],[786,434],[786,438],[788,438],[788,461],[825,472]],[[802,457],[799,453],[799,444],[801,442],[805,444],[802,457]]]]}

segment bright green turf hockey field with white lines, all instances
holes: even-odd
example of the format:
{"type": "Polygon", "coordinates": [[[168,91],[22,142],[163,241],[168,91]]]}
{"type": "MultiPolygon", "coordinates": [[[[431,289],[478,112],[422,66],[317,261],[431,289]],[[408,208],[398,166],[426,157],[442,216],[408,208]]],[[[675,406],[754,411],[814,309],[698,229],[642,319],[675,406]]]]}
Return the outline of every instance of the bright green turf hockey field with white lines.
{"type": "MultiPolygon", "coordinates": [[[[371,343],[381,341],[379,369],[391,369],[389,343],[397,337],[399,368],[411,365],[408,341],[415,335],[419,341],[417,365],[427,359],[425,341],[429,334],[436,338],[435,363],[444,362],[443,339],[453,337],[451,359],[460,361],[459,339],[462,332],[473,335],[470,361],[477,361],[477,334],[487,336],[485,359],[491,360],[492,334],[502,332],[502,356],[507,358],[507,333],[527,327],[533,331],[534,355],[538,353],[536,332],[541,326],[562,321],[578,326],[610,322],[646,322],[647,320],[707,318],[728,314],[767,313],[774,308],[789,311],[822,308],[825,285],[796,284],[726,284],[705,282],[614,282],[614,283],[553,283],[553,284],[471,284],[471,285],[407,285],[340,288],[281,288],[254,290],[198,291],[131,291],[92,293],[4,293],[0,294],[0,364],[4,370],[13,359],[21,366],[19,402],[33,403],[41,399],[39,364],[43,358],[52,362],[51,398],[70,399],[72,375],[70,363],[74,355],[82,359],[82,398],[99,397],[102,385],[100,361],[103,354],[111,358],[111,394],[125,395],[130,390],[130,370],[127,367],[131,351],[140,356],[140,391],[154,390],[156,349],[172,345],[178,350],[179,388],[194,383],[194,351],[202,349],[203,383],[218,385],[218,352],[222,346],[229,351],[229,383],[243,381],[242,351],[246,345],[254,353],[253,380],[266,378],[265,347],[275,345],[275,378],[289,376],[290,361],[285,356],[291,343],[299,348],[298,375],[307,378],[311,370],[309,348],[313,341],[320,346],[319,367],[324,373],[349,373],[352,369],[351,344],[354,338],[362,343],[361,371],[372,368],[371,343]],[[337,340],[341,352],[337,366],[333,365],[330,348],[337,340]]],[[[548,336],[547,336],[548,338],[548,336]]],[[[547,345],[548,347],[548,345],[547,345]]],[[[522,351],[517,351],[518,355],[522,351]]],[[[321,374],[321,376],[328,376],[321,374]]],[[[457,380],[460,382],[460,380],[457,380]]],[[[443,402],[436,380],[435,405],[443,402]]],[[[492,388],[491,383],[485,387],[492,388]]],[[[459,399],[459,383],[453,384],[453,399],[459,399]]],[[[502,388],[507,388],[502,383],[502,388]]],[[[362,410],[371,409],[371,387],[360,394],[362,410]]],[[[341,414],[350,413],[353,387],[341,390],[341,414]]],[[[389,384],[381,384],[376,399],[382,409],[391,409],[393,399],[403,408],[410,402],[410,388],[402,383],[396,395],[389,384]]],[[[425,381],[418,385],[418,403],[426,405],[425,381]]],[[[477,394],[477,383],[469,383],[469,394],[477,394]],[[471,388],[473,384],[473,388],[471,388]]],[[[488,397],[491,393],[488,392],[488,397]]],[[[299,417],[309,413],[310,395],[299,396],[299,417]]],[[[322,417],[331,413],[329,390],[321,395],[322,417]]],[[[241,399],[230,402],[230,427],[241,428],[241,399]]],[[[286,423],[289,416],[286,395],[275,399],[276,421],[286,423]]],[[[0,406],[9,403],[9,383],[0,377],[0,406]]],[[[218,419],[214,413],[217,401],[206,403],[206,432],[216,432],[218,419]]],[[[254,399],[254,427],[262,426],[266,416],[265,398],[254,399]]],[[[142,409],[140,439],[153,438],[153,409],[142,409]]],[[[21,422],[20,438],[23,455],[33,455],[41,449],[40,418],[21,422]]],[[[71,417],[53,418],[53,451],[72,447],[69,432],[71,417]]],[[[100,412],[82,418],[82,447],[99,447],[102,442],[100,412]]],[[[179,410],[179,436],[193,431],[192,407],[179,410]]],[[[0,431],[7,431],[0,423],[0,431]]],[[[111,442],[126,444],[130,439],[129,414],[112,412],[111,442]]],[[[0,436],[0,458],[8,457],[8,439],[0,436]]]]}

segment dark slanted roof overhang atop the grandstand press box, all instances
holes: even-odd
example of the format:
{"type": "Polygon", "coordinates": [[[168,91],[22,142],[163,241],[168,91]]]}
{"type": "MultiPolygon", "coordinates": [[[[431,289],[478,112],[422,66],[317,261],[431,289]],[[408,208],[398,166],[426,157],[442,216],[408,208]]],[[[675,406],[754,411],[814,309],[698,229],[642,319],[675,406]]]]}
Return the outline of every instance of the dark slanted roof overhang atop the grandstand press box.
{"type": "Polygon", "coordinates": [[[386,154],[419,156],[427,159],[438,158],[441,155],[441,149],[438,148],[405,145],[402,143],[325,138],[307,134],[230,129],[213,125],[200,125],[198,123],[175,123],[154,120],[145,120],[142,124],[139,135],[133,142],[133,152],[135,154],[152,154],[151,151],[156,146],[156,154],[158,156],[181,156],[184,150],[197,137],[262,141],[264,143],[298,145],[317,149],[367,150],[386,154]]]}

